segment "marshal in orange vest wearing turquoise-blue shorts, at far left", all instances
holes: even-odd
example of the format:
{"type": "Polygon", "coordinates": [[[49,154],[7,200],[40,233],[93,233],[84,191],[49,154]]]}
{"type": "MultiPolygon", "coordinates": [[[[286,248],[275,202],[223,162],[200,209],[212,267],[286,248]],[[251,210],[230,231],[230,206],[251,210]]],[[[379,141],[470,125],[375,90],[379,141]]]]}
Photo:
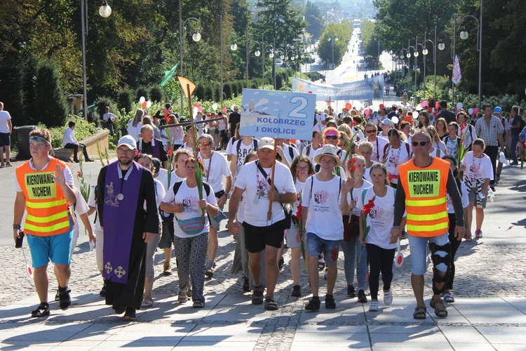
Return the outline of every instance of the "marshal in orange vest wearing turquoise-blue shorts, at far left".
{"type": "Polygon", "coordinates": [[[73,218],[70,209],[76,201],[73,175],[69,166],[49,156],[51,134],[45,128],[36,128],[29,133],[29,161],[16,168],[15,209],[13,216],[13,238],[21,245],[23,235],[33,259],[34,285],[40,305],[31,313],[32,317],[49,315],[48,262],[55,264],[58,277],[59,306],[67,310],[72,305],[68,287],[71,270],[73,218]],[[22,232],[24,210],[27,217],[22,232]]]}

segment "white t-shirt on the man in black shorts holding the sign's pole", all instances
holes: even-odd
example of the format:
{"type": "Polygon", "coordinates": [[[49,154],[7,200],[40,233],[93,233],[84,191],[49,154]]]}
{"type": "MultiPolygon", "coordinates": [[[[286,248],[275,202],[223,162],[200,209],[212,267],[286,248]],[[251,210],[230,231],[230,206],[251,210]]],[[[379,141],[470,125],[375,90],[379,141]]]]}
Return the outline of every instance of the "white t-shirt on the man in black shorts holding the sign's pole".
{"type": "MultiPolygon", "coordinates": [[[[263,170],[270,178],[271,168],[263,168],[263,170]]],[[[296,193],[292,174],[290,174],[289,168],[281,162],[276,162],[272,184],[276,186],[280,194],[287,192],[296,193]]],[[[247,201],[247,206],[245,207],[245,222],[256,227],[267,227],[285,218],[281,204],[274,201],[271,207],[271,220],[267,220],[269,190],[271,190],[271,185],[267,182],[267,178],[257,169],[256,161],[248,162],[248,164],[241,167],[238,178],[236,179],[236,187],[245,190],[243,194],[243,197],[245,197],[247,201]]]]}

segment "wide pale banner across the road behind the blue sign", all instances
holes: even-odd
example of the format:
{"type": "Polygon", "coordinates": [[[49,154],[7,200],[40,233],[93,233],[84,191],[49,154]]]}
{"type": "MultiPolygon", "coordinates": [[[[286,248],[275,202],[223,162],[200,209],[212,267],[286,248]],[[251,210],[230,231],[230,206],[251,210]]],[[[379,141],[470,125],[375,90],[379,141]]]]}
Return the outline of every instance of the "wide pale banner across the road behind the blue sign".
{"type": "Polygon", "coordinates": [[[317,101],[369,100],[384,98],[384,76],[373,76],[345,84],[321,84],[305,79],[292,79],[292,91],[316,95],[317,101]]]}

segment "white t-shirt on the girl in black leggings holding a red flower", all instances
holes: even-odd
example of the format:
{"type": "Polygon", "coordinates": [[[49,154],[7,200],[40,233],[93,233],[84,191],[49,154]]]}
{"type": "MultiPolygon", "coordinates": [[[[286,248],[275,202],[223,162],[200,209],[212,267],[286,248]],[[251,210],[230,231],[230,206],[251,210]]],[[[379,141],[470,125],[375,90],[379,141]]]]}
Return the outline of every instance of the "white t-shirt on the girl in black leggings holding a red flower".
{"type": "MultiPolygon", "coordinates": [[[[389,244],[391,239],[391,228],[393,227],[394,218],[394,199],[396,190],[392,187],[387,187],[387,193],[384,197],[377,196],[374,200],[375,207],[367,216],[367,225],[369,225],[369,234],[365,238],[367,244],[375,244],[382,249],[396,249],[395,244],[389,244]]],[[[375,191],[372,187],[363,190],[365,196],[360,194],[358,197],[357,207],[360,211],[363,210],[363,204],[367,204],[369,200],[375,197],[375,191]],[[364,198],[362,201],[362,198],[364,198]]]]}

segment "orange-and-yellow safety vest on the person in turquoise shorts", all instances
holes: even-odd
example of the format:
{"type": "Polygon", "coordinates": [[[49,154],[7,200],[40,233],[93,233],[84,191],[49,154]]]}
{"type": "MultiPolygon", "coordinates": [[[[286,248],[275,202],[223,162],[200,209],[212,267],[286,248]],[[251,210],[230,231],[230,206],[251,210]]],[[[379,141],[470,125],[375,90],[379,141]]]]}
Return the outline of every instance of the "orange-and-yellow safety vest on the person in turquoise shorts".
{"type": "Polygon", "coordinates": [[[39,237],[63,234],[71,229],[69,223],[69,204],[62,188],[55,183],[55,165],[69,167],[64,162],[52,158],[48,166],[34,171],[29,161],[16,168],[16,178],[25,196],[24,232],[39,237]]]}

